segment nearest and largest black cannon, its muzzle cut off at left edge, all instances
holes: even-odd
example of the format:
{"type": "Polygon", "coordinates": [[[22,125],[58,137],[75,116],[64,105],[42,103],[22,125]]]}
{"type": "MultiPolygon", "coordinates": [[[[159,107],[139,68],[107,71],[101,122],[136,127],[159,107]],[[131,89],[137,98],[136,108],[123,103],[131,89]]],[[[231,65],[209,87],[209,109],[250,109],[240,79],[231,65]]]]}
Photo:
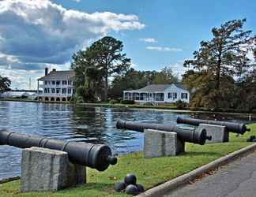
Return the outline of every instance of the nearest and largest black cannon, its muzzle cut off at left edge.
{"type": "Polygon", "coordinates": [[[44,147],[65,151],[70,162],[104,171],[109,165],[115,165],[117,158],[111,156],[111,149],[104,144],[84,142],[65,142],[61,139],[49,139],[39,136],[29,136],[16,132],[0,131],[0,145],[13,147],[44,147]]]}

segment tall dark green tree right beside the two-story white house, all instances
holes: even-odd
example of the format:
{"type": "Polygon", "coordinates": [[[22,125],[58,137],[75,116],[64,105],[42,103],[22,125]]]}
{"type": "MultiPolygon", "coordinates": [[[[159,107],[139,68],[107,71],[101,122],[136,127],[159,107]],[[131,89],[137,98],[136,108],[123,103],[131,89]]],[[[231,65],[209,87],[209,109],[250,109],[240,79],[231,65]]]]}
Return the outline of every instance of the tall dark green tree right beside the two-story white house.
{"type": "Polygon", "coordinates": [[[71,68],[77,73],[78,84],[97,90],[103,88],[103,100],[107,101],[109,77],[130,68],[130,58],[122,54],[122,48],[121,41],[106,36],[74,54],[71,68]]]}

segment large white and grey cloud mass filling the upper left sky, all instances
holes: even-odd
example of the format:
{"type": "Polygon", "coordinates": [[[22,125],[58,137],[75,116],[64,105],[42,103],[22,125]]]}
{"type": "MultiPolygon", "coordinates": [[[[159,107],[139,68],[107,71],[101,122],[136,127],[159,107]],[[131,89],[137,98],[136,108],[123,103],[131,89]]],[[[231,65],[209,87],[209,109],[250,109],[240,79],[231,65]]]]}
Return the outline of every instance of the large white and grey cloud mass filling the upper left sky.
{"type": "Polygon", "coordinates": [[[62,68],[73,52],[92,40],[108,32],[142,28],[145,24],[132,14],[82,13],[50,0],[3,0],[0,1],[0,67],[17,70],[12,72],[17,76],[18,70],[43,69],[47,64],[62,68]]]}

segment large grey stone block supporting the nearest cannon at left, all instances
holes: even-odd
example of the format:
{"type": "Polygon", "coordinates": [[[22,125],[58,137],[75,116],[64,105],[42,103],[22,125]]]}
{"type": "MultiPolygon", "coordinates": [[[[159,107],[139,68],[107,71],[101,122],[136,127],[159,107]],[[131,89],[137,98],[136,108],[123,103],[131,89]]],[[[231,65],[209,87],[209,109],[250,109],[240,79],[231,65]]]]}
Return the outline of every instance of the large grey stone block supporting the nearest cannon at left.
{"type": "Polygon", "coordinates": [[[70,163],[66,152],[40,147],[22,150],[21,192],[57,191],[85,182],[85,166],[70,163]]]}

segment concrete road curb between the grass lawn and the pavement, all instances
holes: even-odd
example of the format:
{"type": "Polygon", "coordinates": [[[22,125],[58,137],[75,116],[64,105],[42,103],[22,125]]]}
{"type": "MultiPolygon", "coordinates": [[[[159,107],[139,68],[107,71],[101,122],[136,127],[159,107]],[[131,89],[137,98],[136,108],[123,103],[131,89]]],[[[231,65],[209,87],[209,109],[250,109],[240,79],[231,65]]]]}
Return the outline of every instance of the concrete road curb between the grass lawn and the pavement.
{"type": "Polygon", "coordinates": [[[249,154],[254,150],[256,150],[256,143],[248,147],[244,147],[239,151],[232,152],[231,154],[228,154],[222,158],[218,158],[215,161],[210,162],[209,164],[203,165],[198,169],[194,169],[190,173],[183,174],[182,176],[176,177],[173,180],[169,180],[164,184],[160,184],[155,188],[151,188],[141,193],[140,195],[136,195],[136,196],[137,197],[160,197],[161,195],[165,195],[167,192],[174,190],[175,188],[179,188],[180,186],[189,184],[191,180],[194,180],[197,177],[200,177],[203,173],[207,173],[210,170],[217,169],[221,165],[228,164],[229,162],[234,161],[236,158],[240,158],[241,156],[249,154]]]}

